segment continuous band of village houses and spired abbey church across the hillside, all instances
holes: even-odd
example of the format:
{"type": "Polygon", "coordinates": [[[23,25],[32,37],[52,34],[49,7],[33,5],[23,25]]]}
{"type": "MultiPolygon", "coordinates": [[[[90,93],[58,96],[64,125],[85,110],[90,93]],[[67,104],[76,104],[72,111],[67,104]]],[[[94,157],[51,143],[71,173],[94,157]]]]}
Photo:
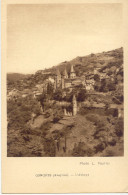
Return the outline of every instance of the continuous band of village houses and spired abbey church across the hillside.
{"type": "MultiPolygon", "coordinates": [[[[70,91],[79,85],[82,85],[87,91],[93,91],[94,90],[94,85],[95,85],[95,79],[94,75],[98,74],[100,80],[102,79],[113,79],[111,76],[107,75],[106,71],[99,71],[100,69],[97,68],[94,70],[94,72],[87,72],[81,77],[78,77],[76,75],[76,72],[74,70],[73,65],[71,65],[71,70],[70,73],[68,74],[66,69],[64,70],[63,73],[60,73],[59,69],[57,69],[56,75],[53,78],[51,76],[51,72],[47,72],[46,74],[48,75],[47,79],[42,82],[38,82],[34,87],[31,89],[29,88],[23,88],[23,90],[17,90],[17,89],[8,89],[7,92],[7,100],[10,99],[17,99],[18,97],[26,97],[28,95],[32,95],[34,98],[38,97],[44,92],[47,92],[47,86],[48,83],[51,83],[54,86],[54,91],[58,88],[65,89],[68,88],[70,91]]],[[[41,74],[44,74],[44,72],[39,72],[41,74]]],[[[22,82],[23,83],[23,82],[22,82]]]]}

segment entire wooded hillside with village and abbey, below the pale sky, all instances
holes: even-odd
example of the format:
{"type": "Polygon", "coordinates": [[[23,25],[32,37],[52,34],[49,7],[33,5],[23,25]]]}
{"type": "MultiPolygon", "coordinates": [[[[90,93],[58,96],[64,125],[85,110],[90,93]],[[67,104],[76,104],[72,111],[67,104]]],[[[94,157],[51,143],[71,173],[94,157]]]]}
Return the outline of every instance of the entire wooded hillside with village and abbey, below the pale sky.
{"type": "Polygon", "coordinates": [[[8,156],[123,155],[123,48],[11,77],[8,156]]]}

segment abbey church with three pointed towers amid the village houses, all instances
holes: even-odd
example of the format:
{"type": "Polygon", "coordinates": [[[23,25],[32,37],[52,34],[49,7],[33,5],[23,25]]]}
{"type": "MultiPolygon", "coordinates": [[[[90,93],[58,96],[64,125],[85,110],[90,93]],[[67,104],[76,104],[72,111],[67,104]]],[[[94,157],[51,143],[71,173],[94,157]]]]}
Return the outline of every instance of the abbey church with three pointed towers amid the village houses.
{"type": "Polygon", "coordinates": [[[78,86],[80,84],[85,84],[85,77],[77,77],[76,73],[74,71],[73,65],[71,65],[71,70],[68,75],[66,69],[62,74],[60,74],[60,71],[57,69],[56,77],[55,77],[55,85],[54,88],[55,90],[57,88],[73,88],[75,86],[78,86]]]}

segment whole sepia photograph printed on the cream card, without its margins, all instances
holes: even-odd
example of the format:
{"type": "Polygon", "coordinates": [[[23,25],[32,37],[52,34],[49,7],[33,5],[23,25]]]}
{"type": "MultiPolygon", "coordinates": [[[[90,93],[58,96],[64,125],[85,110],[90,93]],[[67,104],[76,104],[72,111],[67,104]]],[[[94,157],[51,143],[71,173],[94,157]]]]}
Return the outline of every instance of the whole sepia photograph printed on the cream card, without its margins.
{"type": "Polygon", "coordinates": [[[7,5],[7,157],[123,157],[121,3],[7,5]]]}

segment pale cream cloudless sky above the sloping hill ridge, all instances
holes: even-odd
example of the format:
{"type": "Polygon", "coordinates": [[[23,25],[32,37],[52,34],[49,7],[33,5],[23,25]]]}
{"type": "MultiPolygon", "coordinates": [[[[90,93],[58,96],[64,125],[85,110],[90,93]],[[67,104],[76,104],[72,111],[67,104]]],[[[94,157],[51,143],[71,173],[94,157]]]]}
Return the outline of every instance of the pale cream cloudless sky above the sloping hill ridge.
{"type": "Polygon", "coordinates": [[[7,7],[7,71],[34,73],[123,46],[121,4],[7,7]]]}

